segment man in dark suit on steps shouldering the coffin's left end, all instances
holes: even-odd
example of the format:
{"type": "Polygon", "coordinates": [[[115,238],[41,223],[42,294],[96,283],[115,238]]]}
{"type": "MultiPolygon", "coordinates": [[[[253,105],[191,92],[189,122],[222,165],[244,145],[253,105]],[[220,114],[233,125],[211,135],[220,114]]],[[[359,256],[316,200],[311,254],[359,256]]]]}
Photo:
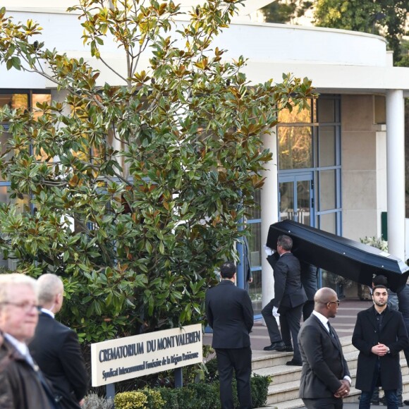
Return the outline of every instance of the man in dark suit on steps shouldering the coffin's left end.
{"type": "Polygon", "coordinates": [[[262,316],[271,341],[271,345],[266,346],[264,350],[294,350],[293,359],[286,365],[301,366],[297,337],[307,296],[301,284],[300,262],[291,252],[292,248],[293,239],[291,237],[279,236],[277,252],[267,257],[274,270],[274,298],[262,309],[262,316]],[[275,318],[278,315],[281,334],[275,318]],[[291,337],[293,346],[291,346],[291,337]]]}

